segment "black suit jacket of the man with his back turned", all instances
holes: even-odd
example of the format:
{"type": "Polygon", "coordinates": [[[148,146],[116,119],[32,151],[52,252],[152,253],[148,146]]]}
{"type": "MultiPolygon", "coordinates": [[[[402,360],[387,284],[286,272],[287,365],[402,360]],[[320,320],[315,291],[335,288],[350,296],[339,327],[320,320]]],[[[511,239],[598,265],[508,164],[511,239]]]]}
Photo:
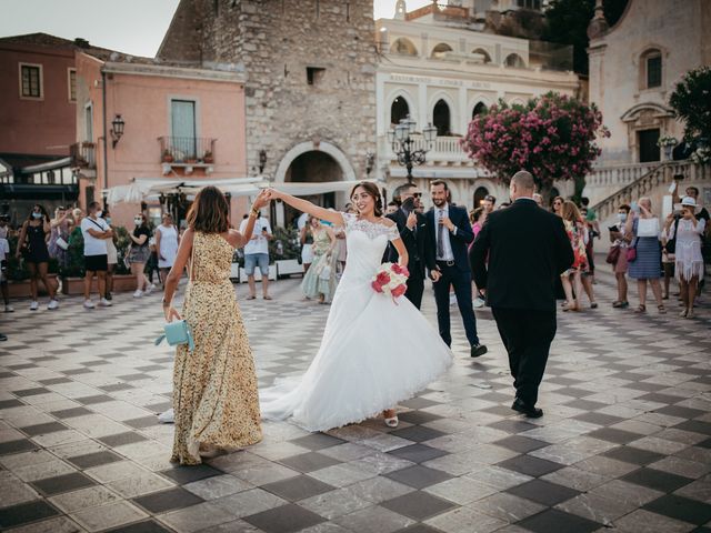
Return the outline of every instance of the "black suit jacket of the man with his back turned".
{"type": "Polygon", "coordinates": [[[555,309],[555,280],[573,259],[562,219],[525,199],[489,214],[470,252],[477,286],[509,309],[555,309]]]}

